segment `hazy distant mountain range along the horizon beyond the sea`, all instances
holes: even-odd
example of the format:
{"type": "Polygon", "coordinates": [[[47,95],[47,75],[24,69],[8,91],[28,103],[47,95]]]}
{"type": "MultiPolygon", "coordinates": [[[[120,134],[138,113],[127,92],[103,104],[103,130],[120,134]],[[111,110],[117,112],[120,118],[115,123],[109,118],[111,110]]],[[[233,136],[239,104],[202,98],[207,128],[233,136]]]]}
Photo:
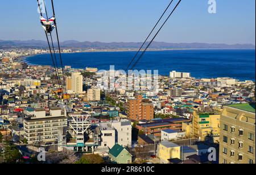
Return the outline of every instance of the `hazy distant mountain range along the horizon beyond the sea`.
{"type": "MultiPolygon", "coordinates": [[[[56,45],[56,43],[55,43],[56,45]]],[[[68,40],[60,43],[61,48],[71,49],[135,49],[141,47],[142,43],[124,42],[89,42],[68,40]]],[[[47,48],[48,44],[42,40],[6,41],[0,40],[0,48],[47,48]]],[[[253,44],[208,44],[208,43],[165,43],[154,41],[151,49],[255,49],[253,44]]]]}

